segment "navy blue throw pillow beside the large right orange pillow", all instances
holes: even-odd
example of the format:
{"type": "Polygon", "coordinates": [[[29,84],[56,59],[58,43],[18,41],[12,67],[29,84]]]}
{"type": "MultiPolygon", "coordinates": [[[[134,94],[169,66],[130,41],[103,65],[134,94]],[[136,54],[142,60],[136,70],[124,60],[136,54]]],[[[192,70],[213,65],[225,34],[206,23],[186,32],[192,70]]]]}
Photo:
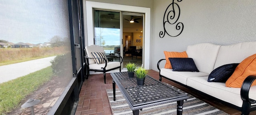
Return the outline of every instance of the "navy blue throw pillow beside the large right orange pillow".
{"type": "Polygon", "coordinates": [[[208,76],[208,82],[226,82],[239,63],[230,63],[214,69],[208,76]]]}

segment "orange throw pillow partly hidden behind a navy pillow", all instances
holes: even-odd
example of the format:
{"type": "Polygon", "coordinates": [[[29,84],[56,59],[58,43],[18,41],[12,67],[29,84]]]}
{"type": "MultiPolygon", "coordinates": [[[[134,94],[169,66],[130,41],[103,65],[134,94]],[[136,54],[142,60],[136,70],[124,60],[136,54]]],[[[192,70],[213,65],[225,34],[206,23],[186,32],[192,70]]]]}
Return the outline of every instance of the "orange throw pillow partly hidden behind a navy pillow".
{"type": "Polygon", "coordinates": [[[167,68],[167,69],[172,69],[171,62],[168,59],[169,57],[188,57],[188,54],[187,54],[186,51],[184,51],[184,52],[167,52],[167,51],[164,51],[164,55],[165,55],[165,59],[166,59],[166,63],[165,63],[164,68],[167,68]]]}

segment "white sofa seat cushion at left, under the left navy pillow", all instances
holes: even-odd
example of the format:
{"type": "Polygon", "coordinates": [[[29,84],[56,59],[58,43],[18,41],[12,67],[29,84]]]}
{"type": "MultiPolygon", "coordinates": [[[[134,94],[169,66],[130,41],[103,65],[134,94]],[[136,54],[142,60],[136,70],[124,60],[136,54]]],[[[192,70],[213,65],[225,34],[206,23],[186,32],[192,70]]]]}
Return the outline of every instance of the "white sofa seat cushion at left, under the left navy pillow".
{"type": "Polygon", "coordinates": [[[163,75],[174,81],[178,81],[184,85],[187,85],[188,77],[202,77],[208,76],[209,74],[203,72],[190,72],[190,71],[172,71],[172,69],[162,68],[160,75],[163,75]]]}

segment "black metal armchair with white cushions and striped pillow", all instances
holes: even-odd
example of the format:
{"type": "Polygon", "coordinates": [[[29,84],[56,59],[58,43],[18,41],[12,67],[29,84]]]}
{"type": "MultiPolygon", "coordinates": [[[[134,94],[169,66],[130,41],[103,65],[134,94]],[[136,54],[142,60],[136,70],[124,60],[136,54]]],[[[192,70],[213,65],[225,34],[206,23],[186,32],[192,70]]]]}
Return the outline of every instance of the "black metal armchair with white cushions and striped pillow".
{"type": "MultiPolygon", "coordinates": [[[[120,58],[120,61],[109,61],[105,55],[104,49],[101,46],[92,45],[85,47],[86,56],[86,79],[90,74],[90,71],[103,72],[104,83],[106,83],[106,72],[118,69],[121,72],[121,63],[123,58],[121,56],[116,56],[120,58]]],[[[108,56],[110,57],[110,56],[108,56]]]]}

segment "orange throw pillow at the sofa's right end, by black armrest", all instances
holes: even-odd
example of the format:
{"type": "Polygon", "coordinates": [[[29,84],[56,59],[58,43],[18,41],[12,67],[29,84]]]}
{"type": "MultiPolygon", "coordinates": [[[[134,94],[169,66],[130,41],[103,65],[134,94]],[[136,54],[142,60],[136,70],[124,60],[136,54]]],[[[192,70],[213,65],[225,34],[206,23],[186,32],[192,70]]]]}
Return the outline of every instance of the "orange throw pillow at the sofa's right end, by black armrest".
{"type": "MultiPolygon", "coordinates": [[[[256,54],[247,57],[236,67],[234,73],[226,81],[226,87],[241,88],[244,79],[254,74],[256,74],[256,54]]],[[[256,85],[255,81],[251,86],[253,85],[256,85]]]]}

